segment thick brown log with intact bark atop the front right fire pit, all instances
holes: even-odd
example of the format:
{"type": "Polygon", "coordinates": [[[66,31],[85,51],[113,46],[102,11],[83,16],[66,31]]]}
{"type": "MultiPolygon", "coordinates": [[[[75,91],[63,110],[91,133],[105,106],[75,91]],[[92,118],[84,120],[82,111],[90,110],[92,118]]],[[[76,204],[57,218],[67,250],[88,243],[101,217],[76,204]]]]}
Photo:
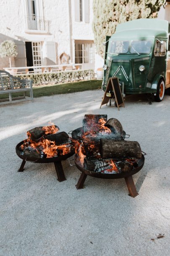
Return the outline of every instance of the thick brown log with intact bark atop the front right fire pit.
{"type": "Polygon", "coordinates": [[[122,159],[128,157],[140,159],[142,157],[142,152],[137,141],[100,139],[100,155],[104,159],[122,159]]]}

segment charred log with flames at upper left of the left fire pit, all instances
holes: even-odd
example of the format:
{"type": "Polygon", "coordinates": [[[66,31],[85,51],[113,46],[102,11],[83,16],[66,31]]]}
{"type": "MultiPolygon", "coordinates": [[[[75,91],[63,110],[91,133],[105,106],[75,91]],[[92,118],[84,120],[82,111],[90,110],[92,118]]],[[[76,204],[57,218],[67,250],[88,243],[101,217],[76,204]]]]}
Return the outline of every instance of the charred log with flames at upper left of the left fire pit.
{"type": "Polygon", "coordinates": [[[59,131],[57,125],[39,126],[27,131],[27,136],[32,141],[38,141],[45,134],[53,134],[59,131]]]}

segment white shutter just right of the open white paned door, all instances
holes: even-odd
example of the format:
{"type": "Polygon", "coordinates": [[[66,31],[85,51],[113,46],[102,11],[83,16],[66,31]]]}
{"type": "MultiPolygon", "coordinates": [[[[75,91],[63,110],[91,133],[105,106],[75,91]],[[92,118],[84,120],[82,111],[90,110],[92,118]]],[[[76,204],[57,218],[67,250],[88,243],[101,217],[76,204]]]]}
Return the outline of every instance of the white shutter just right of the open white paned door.
{"type": "Polygon", "coordinates": [[[56,51],[55,42],[44,41],[42,47],[43,64],[55,65],[56,64],[56,51]]]}

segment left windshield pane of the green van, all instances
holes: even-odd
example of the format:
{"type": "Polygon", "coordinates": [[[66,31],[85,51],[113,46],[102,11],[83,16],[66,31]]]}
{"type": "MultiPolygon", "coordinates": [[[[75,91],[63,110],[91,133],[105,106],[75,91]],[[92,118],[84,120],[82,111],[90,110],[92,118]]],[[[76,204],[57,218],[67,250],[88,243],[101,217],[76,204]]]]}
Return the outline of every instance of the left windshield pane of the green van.
{"type": "Polygon", "coordinates": [[[129,49],[129,41],[111,41],[109,53],[127,53],[129,49]]]}

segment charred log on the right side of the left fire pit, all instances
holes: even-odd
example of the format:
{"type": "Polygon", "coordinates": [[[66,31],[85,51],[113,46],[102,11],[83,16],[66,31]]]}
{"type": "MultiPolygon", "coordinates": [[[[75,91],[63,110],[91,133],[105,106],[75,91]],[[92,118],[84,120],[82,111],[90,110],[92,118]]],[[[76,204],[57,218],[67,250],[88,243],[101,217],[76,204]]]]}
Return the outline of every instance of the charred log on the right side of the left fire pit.
{"type": "Polygon", "coordinates": [[[55,141],[55,145],[63,145],[72,142],[68,134],[65,133],[65,131],[44,136],[44,139],[48,139],[49,141],[55,141]]]}

